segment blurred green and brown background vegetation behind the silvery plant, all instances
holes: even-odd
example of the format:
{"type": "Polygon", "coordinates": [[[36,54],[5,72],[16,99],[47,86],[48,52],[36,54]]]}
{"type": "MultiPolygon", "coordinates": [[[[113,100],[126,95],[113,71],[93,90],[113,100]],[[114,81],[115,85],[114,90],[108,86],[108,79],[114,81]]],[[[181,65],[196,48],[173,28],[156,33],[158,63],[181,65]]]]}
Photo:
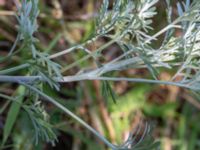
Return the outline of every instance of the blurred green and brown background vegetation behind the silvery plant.
{"type": "MultiPolygon", "coordinates": [[[[177,16],[174,0],[173,16],[177,16]]],[[[81,43],[92,36],[95,16],[101,1],[95,0],[40,0],[39,31],[36,33],[41,50],[50,54],[81,43]]],[[[154,31],[166,25],[165,2],[157,4],[158,15],[154,17],[154,31]]],[[[0,0],[0,55],[4,56],[11,48],[17,35],[16,7],[12,0],[0,0]]],[[[177,31],[177,34],[178,31],[177,31]]],[[[99,39],[90,45],[95,50],[106,39],[99,39]]],[[[157,43],[159,45],[159,43],[157,43]]],[[[158,46],[158,45],[155,45],[158,46]]],[[[117,45],[106,49],[105,59],[111,60],[118,55],[117,45]]],[[[73,60],[81,58],[83,51],[76,51],[57,59],[67,66],[73,60]]],[[[0,63],[3,66],[14,66],[21,63],[20,57],[14,62],[0,63]]],[[[93,66],[86,61],[80,66],[93,66]]],[[[79,66],[65,72],[71,75],[77,72],[79,66]]],[[[18,73],[20,74],[20,72],[18,73]]],[[[119,74],[119,73],[118,73],[119,74]]],[[[129,69],[120,73],[124,76],[147,77],[146,69],[129,69]]],[[[160,70],[159,78],[167,80],[171,74],[160,70]]],[[[122,82],[110,82],[115,92],[116,103],[112,97],[102,94],[100,81],[84,81],[65,83],[58,94],[49,87],[44,90],[55,97],[70,110],[75,112],[92,127],[105,135],[112,143],[122,144],[130,131],[138,126],[144,128],[145,123],[151,126],[152,135],[161,141],[163,150],[199,150],[200,149],[200,102],[189,91],[166,85],[150,85],[122,82]]],[[[16,85],[0,84],[0,92],[12,95],[16,85]]],[[[198,97],[197,97],[198,98],[198,97]]],[[[0,136],[7,116],[10,102],[0,101],[0,136]]],[[[15,128],[12,130],[4,149],[19,150],[104,150],[106,147],[93,135],[59,109],[46,104],[58,135],[58,142],[51,144],[39,141],[35,146],[31,140],[32,127],[26,113],[21,110],[15,128]]],[[[142,131],[142,129],[141,129],[142,131]]],[[[142,133],[141,133],[142,135],[142,133]]],[[[138,137],[141,136],[138,133],[138,137]]]]}

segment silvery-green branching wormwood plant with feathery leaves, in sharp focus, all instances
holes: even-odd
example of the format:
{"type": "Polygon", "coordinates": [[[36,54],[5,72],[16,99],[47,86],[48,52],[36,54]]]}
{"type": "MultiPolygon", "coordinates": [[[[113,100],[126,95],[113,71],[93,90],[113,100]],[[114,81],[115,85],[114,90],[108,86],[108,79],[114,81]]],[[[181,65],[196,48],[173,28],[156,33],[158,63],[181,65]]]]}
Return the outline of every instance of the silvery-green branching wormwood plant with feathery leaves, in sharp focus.
{"type": "Polygon", "coordinates": [[[104,0],[96,18],[96,27],[92,38],[52,55],[42,52],[36,46],[39,42],[34,36],[38,29],[38,0],[22,0],[20,6],[16,3],[18,8],[16,18],[19,23],[18,35],[8,55],[1,57],[0,61],[1,63],[12,61],[16,55],[20,55],[23,61],[22,64],[15,67],[7,68],[5,66],[0,70],[1,83],[18,84],[16,93],[12,97],[0,94],[3,99],[12,101],[3,130],[2,145],[7,141],[20,109],[27,112],[33,124],[36,144],[39,139],[55,143],[56,134],[48,121],[45,106],[41,102],[46,100],[74,118],[113,150],[156,149],[157,144],[149,135],[148,125],[146,125],[144,134],[139,141],[135,141],[134,135],[138,133],[136,130],[130,134],[124,144],[113,145],[68,110],[67,106],[61,105],[56,99],[45,94],[42,89],[45,84],[48,84],[59,92],[60,83],[101,80],[105,95],[113,95],[109,81],[174,85],[198,93],[200,90],[200,1],[186,0],[178,3],[178,16],[172,18],[172,6],[170,0],[166,0],[168,24],[156,34],[151,35],[149,31],[153,30],[151,24],[152,18],[157,14],[155,7],[157,2],[158,0],[116,0],[111,4],[112,9],[108,9],[110,2],[104,0]],[[177,30],[181,31],[179,36],[175,35],[177,30]],[[161,35],[164,35],[164,40],[158,48],[154,48],[153,43],[158,42],[161,35]],[[95,51],[87,48],[87,45],[102,37],[109,39],[108,42],[95,51]],[[102,52],[112,44],[117,44],[121,48],[122,54],[109,62],[100,63],[98,60],[103,58],[102,52]],[[53,59],[75,50],[83,50],[86,55],[67,66],[61,66],[53,61],[53,59]],[[96,67],[90,68],[89,71],[85,71],[88,70],[87,68],[81,68],[75,75],[63,76],[68,70],[90,58],[94,60],[96,67]],[[107,75],[129,68],[147,68],[152,77],[144,79],[107,75]],[[170,80],[162,81],[158,79],[161,68],[168,70],[173,68],[176,69],[176,73],[170,80]],[[19,72],[22,74],[16,74],[19,72]],[[23,93],[23,95],[19,95],[19,93],[23,93]]]}

